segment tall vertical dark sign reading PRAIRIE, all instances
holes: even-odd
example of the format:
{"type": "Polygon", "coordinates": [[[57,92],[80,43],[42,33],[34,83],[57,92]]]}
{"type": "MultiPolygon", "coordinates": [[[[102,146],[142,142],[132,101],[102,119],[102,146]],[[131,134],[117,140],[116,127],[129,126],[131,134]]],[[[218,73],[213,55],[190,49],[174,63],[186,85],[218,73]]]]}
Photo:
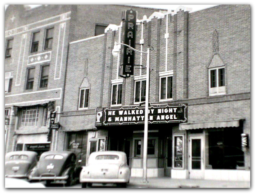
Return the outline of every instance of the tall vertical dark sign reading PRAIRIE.
{"type": "MultiPolygon", "coordinates": [[[[135,48],[137,12],[134,10],[122,12],[122,20],[122,43],[135,48]]],[[[119,76],[127,78],[134,74],[134,54],[130,47],[121,45],[119,76]]]]}

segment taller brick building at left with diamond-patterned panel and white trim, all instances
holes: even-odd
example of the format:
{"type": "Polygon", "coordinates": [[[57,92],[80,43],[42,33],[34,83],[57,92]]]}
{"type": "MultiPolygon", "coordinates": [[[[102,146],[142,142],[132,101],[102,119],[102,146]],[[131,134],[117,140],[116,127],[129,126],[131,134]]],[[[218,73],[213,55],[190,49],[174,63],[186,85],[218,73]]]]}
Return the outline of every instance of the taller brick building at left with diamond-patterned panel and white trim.
{"type": "MultiPolygon", "coordinates": [[[[5,152],[58,150],[66,133],[60,122],[70,41],[120,24],[118,5],[9,5],[5,11],[5,152]],[[99,14],[100,13],[100,14],[99,14]],[[90,14],[90,16],[89,16],[90,14]],[[111,17],[110,17],[111,16],[111,17]]],[[[155,9],[138,8],[150,15],[155,9]]],[[[70,80],[69,80],[70,81],[70,80]]]]}

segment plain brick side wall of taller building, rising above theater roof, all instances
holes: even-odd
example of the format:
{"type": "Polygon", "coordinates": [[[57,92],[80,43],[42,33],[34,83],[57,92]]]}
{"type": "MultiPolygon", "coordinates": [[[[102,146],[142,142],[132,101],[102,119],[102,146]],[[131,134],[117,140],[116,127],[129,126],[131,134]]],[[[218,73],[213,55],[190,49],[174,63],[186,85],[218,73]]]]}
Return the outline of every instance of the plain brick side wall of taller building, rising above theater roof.
{"type": "Polygon", "coordinates": [[[94,36],[96,24],[120,25],[122,11],[133,9],[138,12],[137,18],[142,19],[144,15],[149,17],[154,12],[165,12],[167,10],[141,8],[124,5],[72,5],[72,27],[70,41],[76,41],[94,36]],[[104,16],[104,17],[102,17],[104,16]]]}

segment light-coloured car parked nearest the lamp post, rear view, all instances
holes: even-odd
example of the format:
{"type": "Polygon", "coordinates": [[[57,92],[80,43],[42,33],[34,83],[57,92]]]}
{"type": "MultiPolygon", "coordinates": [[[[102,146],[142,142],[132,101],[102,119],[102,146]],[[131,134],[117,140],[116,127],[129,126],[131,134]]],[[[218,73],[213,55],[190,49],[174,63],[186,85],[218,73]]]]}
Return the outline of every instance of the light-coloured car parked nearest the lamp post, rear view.
{"type": "Polygon", "coordinates": [[[126,187],[130,180],[130,169],[126,153],[121,151],[98,151],[91,153],[88,164],[80,173],[82,188],[91,187],[92,183],[116,183],[126,187]]]}

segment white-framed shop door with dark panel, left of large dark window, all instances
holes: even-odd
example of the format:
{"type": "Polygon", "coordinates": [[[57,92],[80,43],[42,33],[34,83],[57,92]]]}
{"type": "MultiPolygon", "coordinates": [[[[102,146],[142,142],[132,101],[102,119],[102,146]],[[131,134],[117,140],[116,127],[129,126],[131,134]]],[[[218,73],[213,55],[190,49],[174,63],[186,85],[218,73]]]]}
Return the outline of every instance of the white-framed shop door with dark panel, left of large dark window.
{"type": "Polygon", "coordinates": [[[190,137],[189,172],[191,179],[204,178],[204,143],[202,136],[190,137]]]}

